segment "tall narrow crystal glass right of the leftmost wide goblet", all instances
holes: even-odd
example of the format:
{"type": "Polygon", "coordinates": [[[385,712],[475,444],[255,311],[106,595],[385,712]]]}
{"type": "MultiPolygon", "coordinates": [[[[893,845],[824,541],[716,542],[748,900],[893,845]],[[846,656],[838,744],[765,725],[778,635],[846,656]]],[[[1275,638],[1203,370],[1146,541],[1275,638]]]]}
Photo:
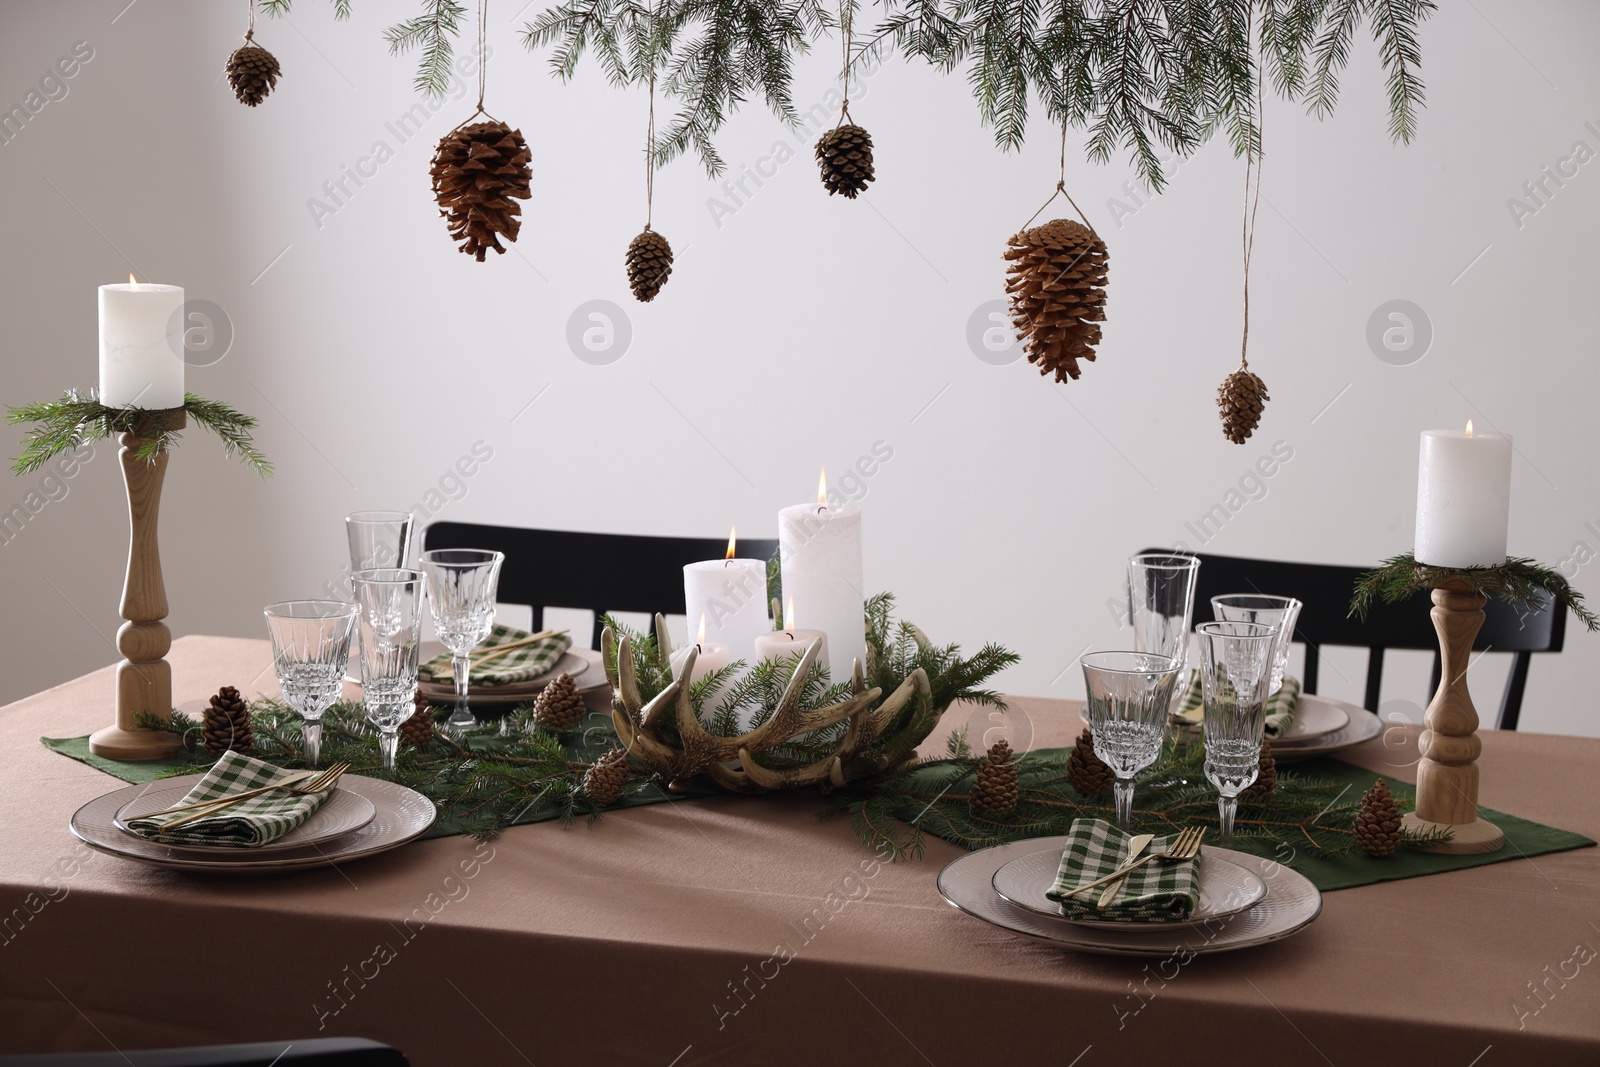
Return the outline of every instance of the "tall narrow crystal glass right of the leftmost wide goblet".
{"type": "Polygon", "coordinates": [[[422,637],[422,571],[357,571],[357,629],[362,635],[362,705],[378,726],[384,769],[395,769],[400,723],[416,710],[416,656],[422,637]]]}

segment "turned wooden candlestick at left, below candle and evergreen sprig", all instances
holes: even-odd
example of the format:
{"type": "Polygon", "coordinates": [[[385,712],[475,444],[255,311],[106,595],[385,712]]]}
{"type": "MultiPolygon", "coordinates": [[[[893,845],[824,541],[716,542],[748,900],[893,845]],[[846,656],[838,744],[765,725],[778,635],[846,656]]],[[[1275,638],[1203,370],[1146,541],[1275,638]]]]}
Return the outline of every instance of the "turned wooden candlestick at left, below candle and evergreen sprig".
{"type": "MultiPolygon", "coordinates": [[[[152,413],[179,429],[187,421],[182,410],[152,413]]],[[[165,656],[173,646],[166,617],[166,585],[155,526],[162,506],[166,453],[155,462],[138,459],[138,434],[123,434],[117,458],[128,486],[128,573],[122,584],[122,617],[117,630],[117,725],[90,734],[90,752],[110,760],[162,760],[178,755],[182,741],[160,729],[141,729],[139,718],[170,720],[173,715],[173,669],[165,656]]]]}

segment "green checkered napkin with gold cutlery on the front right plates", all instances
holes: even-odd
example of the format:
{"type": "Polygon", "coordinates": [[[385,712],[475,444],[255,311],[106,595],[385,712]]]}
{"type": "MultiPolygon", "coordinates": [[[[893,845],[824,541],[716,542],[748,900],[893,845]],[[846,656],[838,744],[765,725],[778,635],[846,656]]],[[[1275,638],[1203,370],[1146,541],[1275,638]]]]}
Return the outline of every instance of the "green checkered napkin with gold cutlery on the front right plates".
{"type": "MultiPolygon", "coordinates": [[[[1165,853],[1168,841],[1176,837],[1173,833],[1155,838],[1141,856],[1165,853]]],[[[1104,878],[1126,864],[1128,838],[1128,833],[1104,819],[1072,821],[1072,830],[1067,832],[1067,848],[1061,853],[1056,885],[1045,894],[1061,904],[1064,917],[1098,918],[1107,923],[1173,923],[1194,915],[1200,904],[1200,878],[1192,859],[1155,861],[1139,867],[1122,883],[1122,893],[1117,894],[1115,904],[1104,912],[1096,907],[1101,893],[1104,893],[1101,886],[1078,896],[1066,896],[1077,886],[1104,878]]]]}

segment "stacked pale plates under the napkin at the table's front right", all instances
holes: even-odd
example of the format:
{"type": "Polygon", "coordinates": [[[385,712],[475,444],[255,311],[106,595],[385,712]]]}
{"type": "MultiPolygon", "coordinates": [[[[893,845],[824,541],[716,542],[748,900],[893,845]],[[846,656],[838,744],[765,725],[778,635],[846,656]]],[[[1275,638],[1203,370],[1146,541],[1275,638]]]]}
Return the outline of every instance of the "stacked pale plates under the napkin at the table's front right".
{"type": "Polygon", "coordinates": [[[1322,913],[1322,893],[1270,859],[1205,846],[1200,904],[1170,923],[1112,923],[1061,915],[1045,893],[1056,881],[1066,837],[1037,837],[962,856],[939,872],[939,896],[986,923],[1062,949],[1099,955],[1168,957],[1232,952],[1282,941],[1322,913]]]}

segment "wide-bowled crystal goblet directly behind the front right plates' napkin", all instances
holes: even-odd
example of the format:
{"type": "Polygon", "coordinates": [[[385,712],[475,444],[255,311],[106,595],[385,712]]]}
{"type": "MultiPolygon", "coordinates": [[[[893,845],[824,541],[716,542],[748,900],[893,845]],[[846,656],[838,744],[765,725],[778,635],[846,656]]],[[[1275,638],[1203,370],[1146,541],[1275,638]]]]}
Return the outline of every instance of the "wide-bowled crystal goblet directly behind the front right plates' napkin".
{"type": "Polygon", "coordinates": [[[1133,776],[1155,763],[1178,662],[1154,653],[1090,653],[1083,657],[1094,755],[1117,776],[1117,825],[1133,817],[1133,776]]]}

